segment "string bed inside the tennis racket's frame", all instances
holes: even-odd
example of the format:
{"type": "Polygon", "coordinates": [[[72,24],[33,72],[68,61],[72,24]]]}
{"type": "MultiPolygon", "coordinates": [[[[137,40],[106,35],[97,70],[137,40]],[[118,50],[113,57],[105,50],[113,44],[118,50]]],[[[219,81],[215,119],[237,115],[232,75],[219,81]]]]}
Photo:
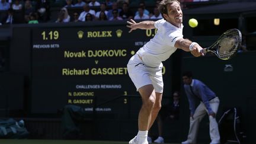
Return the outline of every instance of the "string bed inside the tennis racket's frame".
{"type": "Polygon", "coordinates": [[[240,37],[238,31],[223,34],[218,45],[218,55],[221,59],[229,59],[239,48],[240,37]]]}

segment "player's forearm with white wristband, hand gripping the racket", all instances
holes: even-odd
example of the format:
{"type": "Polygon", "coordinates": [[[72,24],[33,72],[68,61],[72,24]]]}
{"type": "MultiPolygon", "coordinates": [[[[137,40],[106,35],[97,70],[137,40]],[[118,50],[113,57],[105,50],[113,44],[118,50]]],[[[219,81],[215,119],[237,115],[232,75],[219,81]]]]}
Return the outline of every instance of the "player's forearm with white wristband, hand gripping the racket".
{"type": "Polygon", "coordinates": [[[178,49],[182,49],[185,52],[191,52],[193,56],[201,56],[200,50],[203,49],[199,44],[193,43],[190,40],[187,39],[178,39],[174,45],[175,47],[178,47],[178,49]]]}

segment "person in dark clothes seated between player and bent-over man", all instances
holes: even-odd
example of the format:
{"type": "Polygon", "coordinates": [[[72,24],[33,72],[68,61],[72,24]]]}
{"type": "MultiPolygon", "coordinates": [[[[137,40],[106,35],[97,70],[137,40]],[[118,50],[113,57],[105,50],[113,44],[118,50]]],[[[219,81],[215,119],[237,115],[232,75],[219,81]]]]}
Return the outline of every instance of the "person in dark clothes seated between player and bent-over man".
{"type": "MultiPolygon", "coordinates": [[[[158,138],[154,140],[155,143],[164,143],[163,137],[163,120],[168,119],[170,121],[178,120],[180,116],[180,92],[175,91],[172,95],[171,103],[162,106],[159,111],[156,122],[158,126],[158,138]]],[[[150,130],[151,131],[151,130],[150,130]]],[[[152,143],[152,138],[148,137],[148,142],[152,143]]]]}

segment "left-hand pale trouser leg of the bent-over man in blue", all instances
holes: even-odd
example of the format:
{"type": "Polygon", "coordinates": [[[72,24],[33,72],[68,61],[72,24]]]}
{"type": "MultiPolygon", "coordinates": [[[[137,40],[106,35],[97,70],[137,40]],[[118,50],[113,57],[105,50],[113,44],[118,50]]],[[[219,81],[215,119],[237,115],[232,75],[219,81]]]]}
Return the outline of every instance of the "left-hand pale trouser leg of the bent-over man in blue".
{"type": "Polygon", "coordinates": [[[188,138],[185,142],[182,142],[182,143],[184,144],[196,143],[197,133],[199,130],[199,123],[205,115],[206,115],[205,106],[203,103],[200,103],[199,106],[196,108],[196,111],[193,117],[190,117],[190,129],[188,131],[188,138]]]}

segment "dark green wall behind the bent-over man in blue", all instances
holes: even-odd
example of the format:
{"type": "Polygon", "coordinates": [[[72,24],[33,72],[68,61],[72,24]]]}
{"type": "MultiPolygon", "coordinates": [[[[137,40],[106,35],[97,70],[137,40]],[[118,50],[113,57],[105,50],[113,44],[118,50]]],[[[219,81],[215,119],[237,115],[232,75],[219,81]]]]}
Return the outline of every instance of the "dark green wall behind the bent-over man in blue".
{"type": "MultiPolygon", "coordinates": [[[[224,108],[241,108],[242,126],[247,134],[249,143],[254,143],[256,129],[255,101],[255,52],[238,53],[231,60],[220,60],[216,56],[184,57],[182,59],[182,72],[192,71],[194,78],[203,81],[220,98],[217,120],[224,108]],[[232,71],[225,71],[226,66],[232,66],[232,71]]],[[[181,117],[184,120],[182,137],[187,136],[189,110],[187,97],[184,94],[181,103],[181,117]]],[[[199,142],[209,140],[209,120],[207,117],[201,122],[199,142]]],[[[207,142],[207,141],[206,141],[207,142]]]]}

